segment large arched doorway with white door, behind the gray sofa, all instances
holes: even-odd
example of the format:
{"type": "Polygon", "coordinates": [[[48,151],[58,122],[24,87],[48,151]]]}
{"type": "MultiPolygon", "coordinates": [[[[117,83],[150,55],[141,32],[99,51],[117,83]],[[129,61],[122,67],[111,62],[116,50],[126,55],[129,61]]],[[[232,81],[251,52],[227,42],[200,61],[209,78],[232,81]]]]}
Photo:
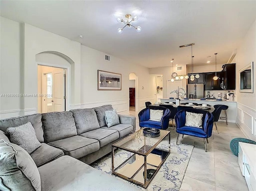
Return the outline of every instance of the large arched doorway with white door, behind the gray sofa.
{"type": "Polygon", "coordinates": [[[36,55],[38,65],[37,112],[70,110],[74,89],[74,62],[56,51],[36,55]]]}

